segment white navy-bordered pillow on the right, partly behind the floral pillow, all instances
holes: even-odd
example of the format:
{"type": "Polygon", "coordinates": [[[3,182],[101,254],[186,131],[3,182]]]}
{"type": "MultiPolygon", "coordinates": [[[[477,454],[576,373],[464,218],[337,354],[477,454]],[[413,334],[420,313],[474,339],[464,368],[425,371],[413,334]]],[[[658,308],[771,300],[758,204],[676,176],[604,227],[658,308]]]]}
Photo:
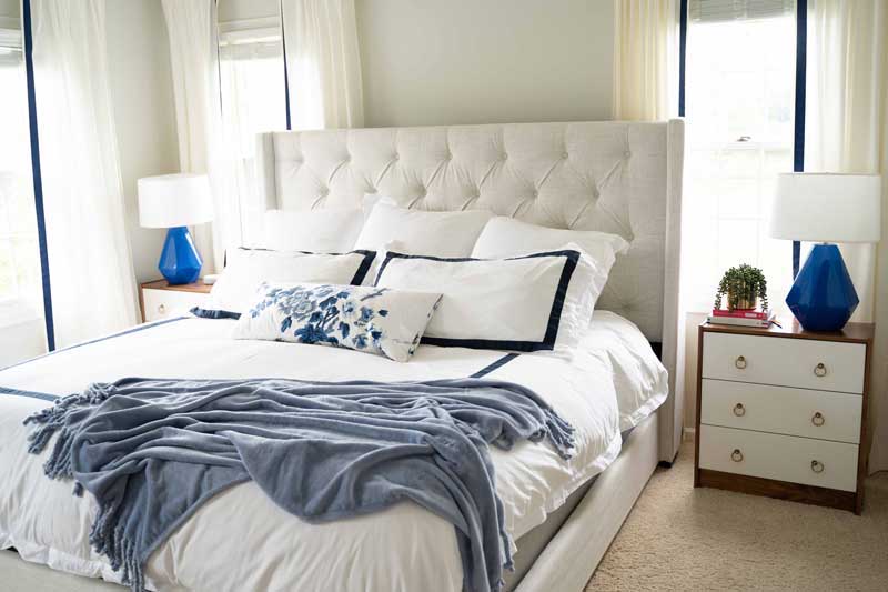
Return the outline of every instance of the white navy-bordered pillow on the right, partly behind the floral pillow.
{"type": "Polygon", "coordinates": [[[603,283],[576,245],[509,259],[384,254],[376,285],[444,297],[423,343],[488,350],[573,348],[603,283]]]}

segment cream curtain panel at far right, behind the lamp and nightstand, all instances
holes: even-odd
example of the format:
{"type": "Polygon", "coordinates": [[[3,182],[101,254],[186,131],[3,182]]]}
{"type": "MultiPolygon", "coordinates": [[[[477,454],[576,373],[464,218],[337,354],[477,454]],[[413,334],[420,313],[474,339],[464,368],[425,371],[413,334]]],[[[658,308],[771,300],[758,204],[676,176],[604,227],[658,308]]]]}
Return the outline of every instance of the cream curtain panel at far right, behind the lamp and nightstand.
{"type": "Polygon", "coordinates": [[[810,0],[807,68],[805,170],[884,180],[878,249],[840,248],[860,297],[851,321],[876,320],[869,469],[888,470],[888,2],[810,0]]]}

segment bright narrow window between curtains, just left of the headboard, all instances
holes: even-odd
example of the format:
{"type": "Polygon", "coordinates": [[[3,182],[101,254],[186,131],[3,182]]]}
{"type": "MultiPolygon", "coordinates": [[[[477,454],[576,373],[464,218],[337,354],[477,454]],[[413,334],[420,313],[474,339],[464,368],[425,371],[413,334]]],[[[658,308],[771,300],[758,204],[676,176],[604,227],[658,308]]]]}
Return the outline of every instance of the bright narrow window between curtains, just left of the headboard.
{"type": "Polygon", "coordinates": [[[286,128],[281,30],[280,24],[239,29],[236,23],[220,29],[224,142],[234,168],[241,242],[250,244],[262,231],[265,209],[256,193],[256,133],[286,128]]]}

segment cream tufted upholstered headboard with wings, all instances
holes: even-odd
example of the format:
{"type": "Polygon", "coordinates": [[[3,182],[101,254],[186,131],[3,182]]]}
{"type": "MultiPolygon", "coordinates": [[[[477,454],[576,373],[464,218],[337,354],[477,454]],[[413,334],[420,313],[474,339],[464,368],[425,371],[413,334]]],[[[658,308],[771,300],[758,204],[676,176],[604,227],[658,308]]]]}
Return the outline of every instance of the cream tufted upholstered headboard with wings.
{"type": "MultiPolygon", "coordinates": [[[[258,175],[269,209],[360,207],[364,194],[377,193],[405,208],[486,209],[545,227],[619,234],[629,250],[614,265],[598,308],[662,342],[672,382],[679,354],[683,154],[680,120],[271,132],[259,138],[258,175]]],[[[660,421],[662,434],[664,424],[674,424],[660,448],[672,440],[673,453],[682,405],[673,397],[668,407],[675,421],[660,421]]]]}

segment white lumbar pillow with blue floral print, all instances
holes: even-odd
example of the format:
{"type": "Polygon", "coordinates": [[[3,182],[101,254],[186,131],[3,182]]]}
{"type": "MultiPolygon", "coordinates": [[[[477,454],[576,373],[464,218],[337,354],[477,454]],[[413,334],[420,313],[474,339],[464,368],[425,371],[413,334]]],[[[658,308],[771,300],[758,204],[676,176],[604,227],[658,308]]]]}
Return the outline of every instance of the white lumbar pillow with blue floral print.
{"type": "Polygon", "coordinates": [[[263,282],[233,337],[333,345],[406,362],[438,302],[440,293],[263,282]]]}

